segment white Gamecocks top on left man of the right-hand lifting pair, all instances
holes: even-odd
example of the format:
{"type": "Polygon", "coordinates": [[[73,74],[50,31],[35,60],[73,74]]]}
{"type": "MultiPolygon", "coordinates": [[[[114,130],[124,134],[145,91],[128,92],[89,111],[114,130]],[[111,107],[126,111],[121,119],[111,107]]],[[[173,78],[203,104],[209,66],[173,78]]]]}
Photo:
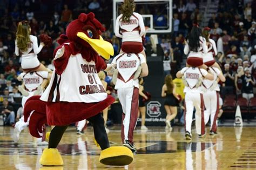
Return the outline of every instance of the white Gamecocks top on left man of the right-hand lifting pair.
{"type": "Polygon", "coordinates": [[[204,69],[199,69],[198,67],[184,67],[181,70],[181,73],[184,75],[185,80],[187,81],[188,86],[185,86],[184,93],[203,93],[201,87],[196,87],[198,79],[207,75],[207,71],[204,69]]]}

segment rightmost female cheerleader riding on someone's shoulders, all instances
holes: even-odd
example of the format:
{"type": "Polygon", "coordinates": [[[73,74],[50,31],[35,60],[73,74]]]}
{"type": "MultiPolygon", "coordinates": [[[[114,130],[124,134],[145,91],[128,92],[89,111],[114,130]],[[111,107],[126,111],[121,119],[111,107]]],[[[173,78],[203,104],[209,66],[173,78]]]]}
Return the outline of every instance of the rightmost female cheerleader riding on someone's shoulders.
{"type": "Polygon", "coordinates": [[[202,32],[202,36],[205,38],[207,45],[207,53],[203,53],[203,62],[206,66],[217,67],[221,71],[219,64],[216,63],[214,59],[214,56],[217,55],[217,47],[214,40],[210,38],[210,30],[210,28],[205,27],[202,32]]]}

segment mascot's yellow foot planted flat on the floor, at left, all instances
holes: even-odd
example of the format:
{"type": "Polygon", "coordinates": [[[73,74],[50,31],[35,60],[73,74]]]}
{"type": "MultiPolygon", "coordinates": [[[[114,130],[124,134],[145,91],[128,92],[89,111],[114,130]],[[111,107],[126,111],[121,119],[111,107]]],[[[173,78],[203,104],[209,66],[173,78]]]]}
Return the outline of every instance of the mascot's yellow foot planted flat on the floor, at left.
{"type": "Polygon", "coordinates": [[[56,148],[45,148],[39,162],[43,166],[63,165],[62,156],[56,148]]]}

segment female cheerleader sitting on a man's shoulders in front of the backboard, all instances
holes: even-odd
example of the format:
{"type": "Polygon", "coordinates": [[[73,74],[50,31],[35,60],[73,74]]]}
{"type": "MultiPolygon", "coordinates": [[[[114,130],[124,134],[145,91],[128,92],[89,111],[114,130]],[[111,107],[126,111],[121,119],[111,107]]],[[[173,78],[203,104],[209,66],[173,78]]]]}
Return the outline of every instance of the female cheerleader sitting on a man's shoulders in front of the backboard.
{"type": "Polygon", "coordinates": [[[121,6],[122,13],[117,17],[115,34],[122,39],[120,53],[142,53],[146,57],[143,49],[142,37],[145,34],[143,17],[134,12],[134,0],[124,0],[121,6]]]}

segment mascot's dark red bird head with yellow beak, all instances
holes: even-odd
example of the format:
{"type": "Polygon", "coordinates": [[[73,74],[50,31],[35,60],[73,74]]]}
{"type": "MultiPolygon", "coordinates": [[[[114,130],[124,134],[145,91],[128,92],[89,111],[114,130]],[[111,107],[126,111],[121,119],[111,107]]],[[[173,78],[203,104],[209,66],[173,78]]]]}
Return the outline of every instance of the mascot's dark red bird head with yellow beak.
{"type": "MultiPolygon", "coordinates": [[[[100,36],[105,31],[104,26],[95,18],[94,13],[81,13],[78,19],[72,21],[66,28],[66,40],[75,42],[76,45],[95,50],[100,56],[109,59],[113,56],[112,44],[100,36]]],[[[65,36],[60,37],[65,41],[65,36]]]]}

